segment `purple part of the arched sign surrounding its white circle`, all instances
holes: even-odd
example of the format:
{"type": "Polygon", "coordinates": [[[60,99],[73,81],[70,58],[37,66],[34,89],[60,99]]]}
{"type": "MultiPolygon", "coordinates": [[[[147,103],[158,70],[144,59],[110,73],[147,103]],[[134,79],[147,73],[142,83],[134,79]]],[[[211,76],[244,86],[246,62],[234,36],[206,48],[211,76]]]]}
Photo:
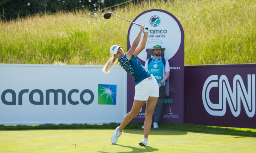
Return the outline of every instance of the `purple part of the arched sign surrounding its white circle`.
{"type": "MultiPolygon", "coordinates": [[[[135,20],[143,15],[144,13],[151,12],[151,11],[159,11],[164,12],[168,15],[170,15],[172,18],[175,19],[178,26],[180,27],[181,31],[181,44],[176,52],[176,54],[169,60],[170,67],[173,69],[170,70],[170,77],[167,83],[169,83],[169,96],[165,97],[165,103],[162,110],[162,117],[160,119],[160,122],[167,122],[167,123],[183,123],[184,122],[184,31],[183,28],[178,21],[178,19],[172,15],[170,12],[164,11],[164,10],[148,10],[140,15],[138,15],[135,20]]],[[[129,28],[128,31],[128,46],[127,49],[130,49],[130,42],[129,42],[129,33],[132,25],[129,28]]],[[[146,49],[148,52],[149,49],[146,49]]],[[[148,58],[150,55],[148,54],[148,58]]],[[[138,58],[138,57],[137,57],[138,58]]],[[[142,63],[142,65],[145,65],[145,62],[138,60],[142,63]]],[[[130,74],[127,75],[127,112],[130,112],[134,100],[134,93],[135,93],[135,83],[133,81],[133,78],[130,74]]],[[[139,112],[139,114],[131,121],[131,122],[144,122],[145,119],[145,106],[142,107],[142,111],[139,112]]]]}

